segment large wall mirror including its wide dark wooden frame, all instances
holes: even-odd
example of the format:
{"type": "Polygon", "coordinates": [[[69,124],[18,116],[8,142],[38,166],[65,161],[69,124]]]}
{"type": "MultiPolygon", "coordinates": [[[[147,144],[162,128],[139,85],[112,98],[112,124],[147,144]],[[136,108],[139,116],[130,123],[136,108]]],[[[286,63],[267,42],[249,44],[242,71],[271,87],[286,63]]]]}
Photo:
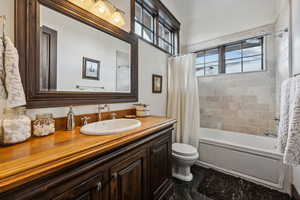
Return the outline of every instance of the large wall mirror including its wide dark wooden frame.
{"type": "Polygon", "coordinates": [[[15,6],[28,108],[138,101],[134,33],[70,1],[16,0],[15,6]]]}

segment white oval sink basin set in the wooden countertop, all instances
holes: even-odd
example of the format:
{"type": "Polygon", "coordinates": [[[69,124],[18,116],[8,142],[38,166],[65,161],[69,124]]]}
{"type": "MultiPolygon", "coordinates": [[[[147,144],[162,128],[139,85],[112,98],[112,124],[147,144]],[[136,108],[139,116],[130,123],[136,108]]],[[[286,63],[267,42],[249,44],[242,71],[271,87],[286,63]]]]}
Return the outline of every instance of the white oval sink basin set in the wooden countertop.
{"type": "Polygon", "coordinates": [[[136,119],[113,119],[87,124],[80,129],[80,132],[86,135],[110,135],[129,131],[141,125],[141,122],[136,119]]]}

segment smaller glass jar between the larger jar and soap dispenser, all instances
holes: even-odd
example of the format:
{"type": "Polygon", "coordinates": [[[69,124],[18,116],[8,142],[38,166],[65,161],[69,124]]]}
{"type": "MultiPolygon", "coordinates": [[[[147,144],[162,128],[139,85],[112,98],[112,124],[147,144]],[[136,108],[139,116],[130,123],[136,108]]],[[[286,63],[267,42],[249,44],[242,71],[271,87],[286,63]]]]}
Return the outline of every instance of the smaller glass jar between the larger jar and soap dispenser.
{"type": "Polygon", "coordinates": [[[37,115],[33,122],[33,135],[42,137],[55,132],[55,120],[52,114],[37,115]]]}

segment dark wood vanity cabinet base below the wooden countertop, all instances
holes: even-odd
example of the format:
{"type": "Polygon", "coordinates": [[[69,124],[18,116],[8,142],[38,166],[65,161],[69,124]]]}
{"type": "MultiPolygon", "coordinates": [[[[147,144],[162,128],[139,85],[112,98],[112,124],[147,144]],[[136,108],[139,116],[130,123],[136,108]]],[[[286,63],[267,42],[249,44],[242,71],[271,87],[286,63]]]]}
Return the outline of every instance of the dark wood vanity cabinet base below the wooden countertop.
{"type": "Polygon", "coordinates": [[[172,127],[0,194],[0,200],[169,200],[172,127]]]}

